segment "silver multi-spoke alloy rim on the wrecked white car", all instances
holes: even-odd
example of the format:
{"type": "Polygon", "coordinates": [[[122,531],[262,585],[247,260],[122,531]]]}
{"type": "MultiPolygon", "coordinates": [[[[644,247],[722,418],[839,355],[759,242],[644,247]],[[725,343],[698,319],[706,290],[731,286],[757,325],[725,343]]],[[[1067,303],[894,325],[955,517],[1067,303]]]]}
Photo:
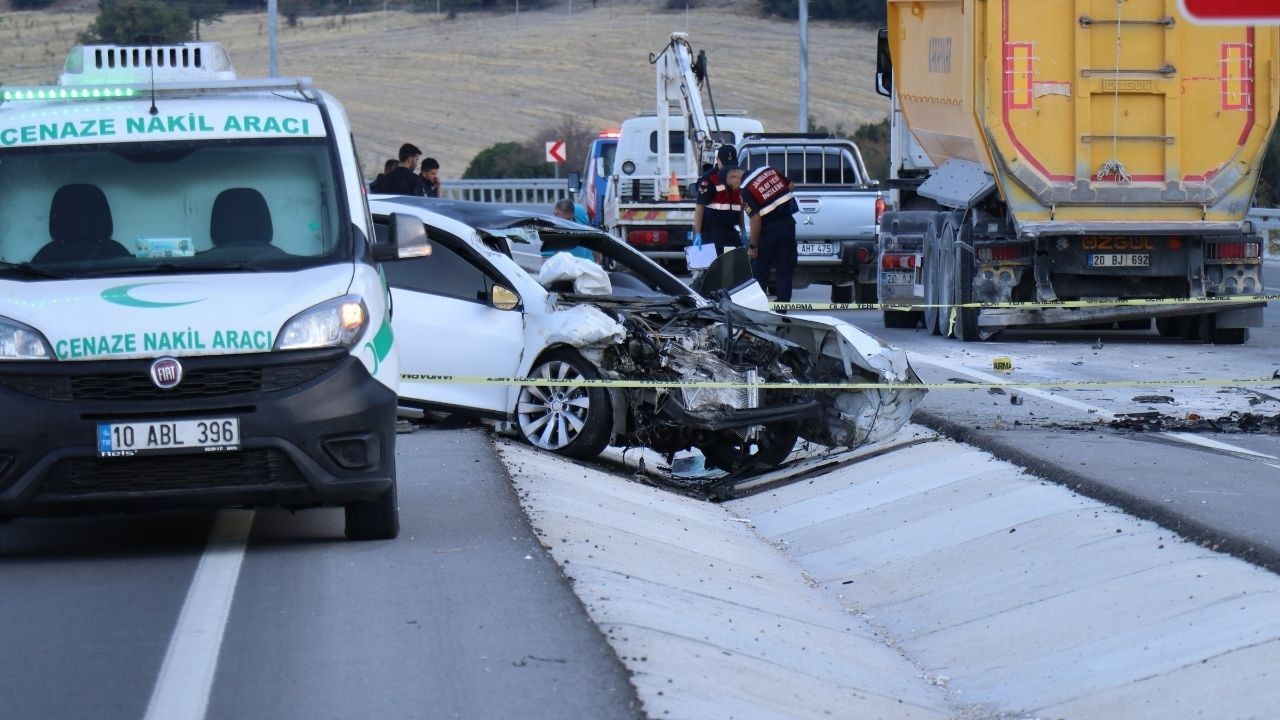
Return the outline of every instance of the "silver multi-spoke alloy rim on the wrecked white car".
{"type": "MultiPolygon", "coordinates": [[[[582,374],[561,360],[543,363],[534,377],[575,382],[582,374]]],[[[520,432],[535,447],[562,450],[577,439],[586,427],[591,409],[588,388],[584,386],[522,386],[516,404],[520,432]]]]}

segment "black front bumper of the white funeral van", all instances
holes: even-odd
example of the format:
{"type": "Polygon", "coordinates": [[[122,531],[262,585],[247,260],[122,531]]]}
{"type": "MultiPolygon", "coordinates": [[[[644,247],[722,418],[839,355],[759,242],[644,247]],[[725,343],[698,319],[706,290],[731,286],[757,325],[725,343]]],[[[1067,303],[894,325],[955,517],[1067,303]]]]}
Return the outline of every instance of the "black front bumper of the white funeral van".
{"type": "Polygon", "coordinates": [[[342,505],[394,482],[396,393],[344,350],[0,363],[0,515],[342,505]],[[220,452],[101,457],[101,423],[236,418],[220,452]]]}

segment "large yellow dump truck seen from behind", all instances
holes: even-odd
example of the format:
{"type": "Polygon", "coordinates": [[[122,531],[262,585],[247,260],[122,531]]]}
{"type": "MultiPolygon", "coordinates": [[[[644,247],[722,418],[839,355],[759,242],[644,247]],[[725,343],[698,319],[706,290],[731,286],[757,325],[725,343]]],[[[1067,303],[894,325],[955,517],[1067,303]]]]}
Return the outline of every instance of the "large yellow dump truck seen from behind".
{"type": "Polygon", "coordinates": [[[1280,106],[1280,28],[1198,26],[1176,0],[888,0],[897,204],[887,325],[961,340],[1121,323],[1240,343],[1262,305],[1245,215],[1280,106]],[[1108,305],[1114,299],[1193,299],[1108,305]],[[951,307],[1091,301],[1087,306],[951,307]],[[952,322],[954,316],[954,322],[952,322]]]}

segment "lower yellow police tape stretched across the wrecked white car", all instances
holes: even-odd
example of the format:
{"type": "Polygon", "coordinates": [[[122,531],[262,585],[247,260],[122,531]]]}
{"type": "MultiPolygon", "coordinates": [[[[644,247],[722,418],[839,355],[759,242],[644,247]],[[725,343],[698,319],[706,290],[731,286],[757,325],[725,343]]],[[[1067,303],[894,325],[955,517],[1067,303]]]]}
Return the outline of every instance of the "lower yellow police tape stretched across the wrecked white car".
{"type": "Polygon", "coordinates": [[[1280,386],[1280,377],[1245,379],[1155,379],[1155,380],[1030,380],[1002,383],[727,383],[712,380],[608,380],[549,378],[492,378],[484,375],[401,374],[402,382],[467,386],[538,386],[538,387],[614,387],[614,388],[696,388],[696,389],[1085,389],[1106,387],[1258,387],[1280,386]]]}

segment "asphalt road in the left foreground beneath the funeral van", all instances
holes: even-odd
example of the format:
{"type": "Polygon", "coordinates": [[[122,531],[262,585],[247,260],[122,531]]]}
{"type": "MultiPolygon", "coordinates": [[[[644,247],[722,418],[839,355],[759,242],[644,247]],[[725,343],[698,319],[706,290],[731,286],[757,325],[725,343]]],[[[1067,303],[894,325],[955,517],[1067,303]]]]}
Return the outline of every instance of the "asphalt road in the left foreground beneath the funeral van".
{"type": "Polygon", "coordinates": [[[392,542],[340,510],[0,525],[0,719],[640,716],[484,434],[399,439],[392,542]]]}

